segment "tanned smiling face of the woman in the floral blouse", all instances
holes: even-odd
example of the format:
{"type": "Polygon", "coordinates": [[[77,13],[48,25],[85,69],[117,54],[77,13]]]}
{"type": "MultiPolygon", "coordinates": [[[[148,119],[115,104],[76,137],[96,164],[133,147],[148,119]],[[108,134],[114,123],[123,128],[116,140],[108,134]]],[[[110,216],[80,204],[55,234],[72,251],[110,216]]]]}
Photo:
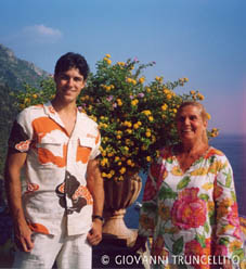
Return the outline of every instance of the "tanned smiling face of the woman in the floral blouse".
{"type": "Polygon", "coordinates": [[[182,141],[203,140],[207,121],[202,118],[199,107],[187,105],[178,115],[177,128],[182,141]]]}

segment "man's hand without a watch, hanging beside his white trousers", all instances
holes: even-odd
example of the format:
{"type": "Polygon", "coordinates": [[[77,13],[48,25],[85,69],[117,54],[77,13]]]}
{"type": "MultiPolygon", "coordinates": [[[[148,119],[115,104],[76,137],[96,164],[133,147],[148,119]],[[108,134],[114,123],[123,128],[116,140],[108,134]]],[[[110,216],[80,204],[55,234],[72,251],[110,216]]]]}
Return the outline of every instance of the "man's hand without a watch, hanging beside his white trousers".
{"type": "Polygon", "coordinates": [[[22,252],[30,252],[34,248],[34,242],[31,240],[31,230],[27,226],[26,221],[14,226],[14,240],[16,246],[22,252]]]}

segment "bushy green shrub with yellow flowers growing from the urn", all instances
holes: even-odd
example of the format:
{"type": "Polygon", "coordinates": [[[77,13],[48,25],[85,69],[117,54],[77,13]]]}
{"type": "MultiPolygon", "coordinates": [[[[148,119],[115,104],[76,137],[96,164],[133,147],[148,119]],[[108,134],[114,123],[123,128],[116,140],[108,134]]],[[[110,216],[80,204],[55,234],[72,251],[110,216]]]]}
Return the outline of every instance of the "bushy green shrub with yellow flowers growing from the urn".
{"type": "MultiPolygon", "coordinates": [[[[95,74],[89,75],[78,99],[78,107],[99,124],[104,179],[124,180],[140,169],[146,171],[157,150],[179,139],[174,124],[179,105],[184,100],[204,99],[197,91],[182,95],[174,92],[187,78],[165,82],[156,77],[145,85],[143,69],[154,64],[140,64],[138,60],[112,64],[106,54],[96,63],[95,74]]],[[[26,91],[17,95],[18,106],[46,102],[54,91],[52,78],[42,82],[41,90],[26,86],[26,91]]]]}

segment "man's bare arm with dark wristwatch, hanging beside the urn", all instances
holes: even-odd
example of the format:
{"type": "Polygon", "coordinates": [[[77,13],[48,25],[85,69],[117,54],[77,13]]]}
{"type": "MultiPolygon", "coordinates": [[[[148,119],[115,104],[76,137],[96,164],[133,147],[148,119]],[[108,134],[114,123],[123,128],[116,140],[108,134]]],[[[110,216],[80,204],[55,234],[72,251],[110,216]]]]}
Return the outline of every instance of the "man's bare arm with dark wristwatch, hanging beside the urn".
{"type": "MultiPolygon", "coordinates": [[[[93,215],[102,216],[104,206],[104,187],[96,159],[89,161],[87,175],[87,187],[93,197],[93,215]]],[[[103,221],[101,219],[93,219],[92,229],[87,236],[91,245],[98,245],[102,240],[102,225],[103,221]]]]}

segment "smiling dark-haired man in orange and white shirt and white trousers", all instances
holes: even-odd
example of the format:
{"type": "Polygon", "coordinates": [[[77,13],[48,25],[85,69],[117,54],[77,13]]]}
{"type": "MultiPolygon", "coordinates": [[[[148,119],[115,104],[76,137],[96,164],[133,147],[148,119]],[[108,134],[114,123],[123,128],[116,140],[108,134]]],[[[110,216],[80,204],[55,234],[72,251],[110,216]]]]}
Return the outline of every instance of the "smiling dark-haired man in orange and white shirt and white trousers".
{"type": "Polygon", "coordinates": [[[13,216],[13,267],[91,268],[91,245],[102,239],[103,180],[98,125],[76,100],[89,67],[66,53],[55,65],[55,98],[25,108],[9,140],[5,185],[13,216]],[[22,193],[21,170],[26,189],[22,193]]]}

